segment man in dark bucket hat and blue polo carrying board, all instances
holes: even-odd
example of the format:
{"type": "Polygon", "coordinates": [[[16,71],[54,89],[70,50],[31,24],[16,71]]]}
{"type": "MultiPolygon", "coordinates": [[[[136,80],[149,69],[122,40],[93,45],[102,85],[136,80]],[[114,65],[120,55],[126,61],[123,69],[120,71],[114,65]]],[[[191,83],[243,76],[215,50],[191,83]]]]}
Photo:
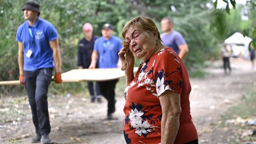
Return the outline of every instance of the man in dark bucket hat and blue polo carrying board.
{"type": "Polygon", "coordinates": [[[26,85],[37,134],[32,138],[32,143],[41,141],[46,144],[51,142],[47,91],[53,67],[54,80],[61,83],[61,56],[58,33],[49,21],[39,18],[39,8],[36,1],[25,3],[22,10],[27,21],[19,26],[16,40],[19,46],[19,81],[26,85]]]}

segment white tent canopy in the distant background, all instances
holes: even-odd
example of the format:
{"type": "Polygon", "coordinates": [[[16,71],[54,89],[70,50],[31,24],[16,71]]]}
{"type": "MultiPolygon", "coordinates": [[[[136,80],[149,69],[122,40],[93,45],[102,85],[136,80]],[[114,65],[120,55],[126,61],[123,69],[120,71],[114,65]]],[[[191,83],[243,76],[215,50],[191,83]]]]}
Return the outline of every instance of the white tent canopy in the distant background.
{"type": "Polygon", "coordinates": [[[234,33],[230,37],[228,37],[225,40],[225,43],[227,44],[244,44],[244,46],[248,46],[249,43],[251,42],[250,37],[244,37],[242,33],[234,33]]]}

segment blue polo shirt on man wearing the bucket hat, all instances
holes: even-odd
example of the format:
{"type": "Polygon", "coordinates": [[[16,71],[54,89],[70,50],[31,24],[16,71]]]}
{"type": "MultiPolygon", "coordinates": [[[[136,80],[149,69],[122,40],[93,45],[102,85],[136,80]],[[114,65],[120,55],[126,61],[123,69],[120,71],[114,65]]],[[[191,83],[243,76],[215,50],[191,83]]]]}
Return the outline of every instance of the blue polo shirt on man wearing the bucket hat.
{"type": "Polygon", "coordinates": [[[54,67],[53,51],[49,42],[58,38],[55,27],[38,17],[33,26],[28,21],[22,23],[16,34],[16,40],[23,43],[24,70],[54,67]],[[27,53],[32,54],[29,55],[27,53]]]}

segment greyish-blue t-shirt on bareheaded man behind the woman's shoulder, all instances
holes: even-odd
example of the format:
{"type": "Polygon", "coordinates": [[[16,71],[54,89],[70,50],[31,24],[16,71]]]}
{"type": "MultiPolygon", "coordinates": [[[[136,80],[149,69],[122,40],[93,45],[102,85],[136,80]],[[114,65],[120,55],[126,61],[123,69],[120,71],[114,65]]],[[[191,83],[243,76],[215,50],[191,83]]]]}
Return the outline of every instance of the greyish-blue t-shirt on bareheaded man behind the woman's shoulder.
{"type": "Polygon", "coordinates": [[[161,39],[163,40],[163,45],[171,47],[177,54],[179,54],[179,46],[182,44],[186,44],[186,41],[182,37],[182,34],[175,30],[172,30],[172,32],[168,35],[162,33],[161,39]]]}

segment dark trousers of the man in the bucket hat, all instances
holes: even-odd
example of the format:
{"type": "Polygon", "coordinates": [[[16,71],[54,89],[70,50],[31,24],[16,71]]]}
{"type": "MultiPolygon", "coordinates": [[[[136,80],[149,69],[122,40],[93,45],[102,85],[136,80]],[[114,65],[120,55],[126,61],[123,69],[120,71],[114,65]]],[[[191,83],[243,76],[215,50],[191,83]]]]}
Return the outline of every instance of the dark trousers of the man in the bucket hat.
{"type": "Polygon", "coordinates": [[[47,92],[51,83],[52,68],[25,71],[24,73],[36,133],[41,135],[49,134],[51,132],[51,125],[48,113],[47,92]]]}

